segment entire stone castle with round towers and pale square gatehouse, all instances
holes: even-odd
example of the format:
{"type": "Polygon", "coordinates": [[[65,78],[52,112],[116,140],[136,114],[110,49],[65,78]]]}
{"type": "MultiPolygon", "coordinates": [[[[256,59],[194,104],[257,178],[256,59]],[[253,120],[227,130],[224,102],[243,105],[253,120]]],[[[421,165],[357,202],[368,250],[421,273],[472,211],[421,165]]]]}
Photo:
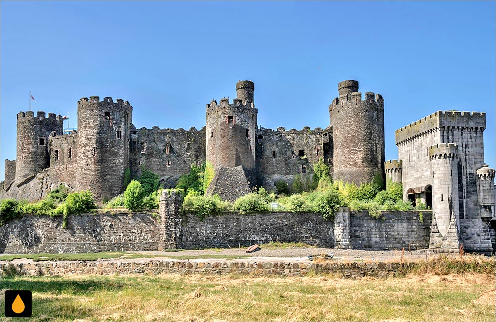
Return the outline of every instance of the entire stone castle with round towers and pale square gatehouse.
{"type": "Polygon", "coordinates": [[[81,98],[77,131],[68,135],[60,115],[20,112],[17,158],[5,160],[1,196],[36,200],[63,183],[108,200],[124,191],[127,168],[138,176],[144,165],[168,188],[191,164],[209,161],[207,193],[233,201],[256,186],[275,190],[277,181],[309,176],[322,158],[335,180],[402,182],[405,200],[433,209],[432,248],[491,249],[495,170],[484,164],[484,112],[438,111],[398,129],[398,160],[385,161],[384,100],[372,92],[362,100],[357,81],[338,84],[325,129],[259,127],[254,90],[239,81],[232,102],[212,100],[200,130],[137,129],[129,102],[111,97],[81,98]]]}

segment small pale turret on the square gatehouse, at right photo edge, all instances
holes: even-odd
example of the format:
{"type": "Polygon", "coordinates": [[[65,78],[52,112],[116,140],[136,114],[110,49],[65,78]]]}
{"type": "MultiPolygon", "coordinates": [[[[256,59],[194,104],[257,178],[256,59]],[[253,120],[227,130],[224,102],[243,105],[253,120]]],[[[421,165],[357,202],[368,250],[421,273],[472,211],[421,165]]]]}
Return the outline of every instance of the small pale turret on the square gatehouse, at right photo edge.
{"type": "Polygon", "coordinates": [[[477,170],[477,197],[479,201],[479,213],[482,218],[495,216],[495,169],[484,164],[477,170]]]}

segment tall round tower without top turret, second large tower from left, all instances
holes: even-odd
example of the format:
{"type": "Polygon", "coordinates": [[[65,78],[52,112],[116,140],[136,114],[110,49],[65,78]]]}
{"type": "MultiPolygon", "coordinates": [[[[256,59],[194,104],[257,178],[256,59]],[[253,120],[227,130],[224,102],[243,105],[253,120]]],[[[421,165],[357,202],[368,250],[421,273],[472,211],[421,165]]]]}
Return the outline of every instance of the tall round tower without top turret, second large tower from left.
{"type": "Polygon", "coordinates": [[[77,102],[77,189],[90,190],[97,200],[124,191],[129,165],[132,106],[129,102],[98,96],[77,102]]]}

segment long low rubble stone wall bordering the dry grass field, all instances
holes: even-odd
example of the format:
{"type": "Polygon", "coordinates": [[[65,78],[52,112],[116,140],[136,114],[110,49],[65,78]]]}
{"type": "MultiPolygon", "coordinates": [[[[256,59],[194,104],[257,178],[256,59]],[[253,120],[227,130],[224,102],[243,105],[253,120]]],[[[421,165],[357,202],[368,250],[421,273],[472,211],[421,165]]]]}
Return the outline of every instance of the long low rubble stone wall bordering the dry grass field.
{"type": "Polygon", "coordinates": [[[173,260],[149,260],[143,262],[32,262],[1,263],[1,272],[15,269],[21,275],[157,275],[173,274],[240,274],[250,276],[281,275],[304,276],[314,273],[338,273],[343,278],[361,278],[372,276],[387,278],[400,268],[399,263],[384,262],[193,262],[173,260]]]}

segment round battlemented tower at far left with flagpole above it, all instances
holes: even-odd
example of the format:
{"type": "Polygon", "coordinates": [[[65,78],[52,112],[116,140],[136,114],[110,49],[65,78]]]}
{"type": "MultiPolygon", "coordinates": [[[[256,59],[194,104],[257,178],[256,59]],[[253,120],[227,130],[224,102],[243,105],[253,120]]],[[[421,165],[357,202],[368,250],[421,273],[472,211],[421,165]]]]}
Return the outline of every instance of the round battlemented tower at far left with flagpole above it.
{"type": "Polygon", "coordinates": [[[17,159],[15,182],[22,184],[49,166],[48,136],[52,131],[63,134],[63,118],[53,113],[19,112],[17,114],[17,159]]]}

